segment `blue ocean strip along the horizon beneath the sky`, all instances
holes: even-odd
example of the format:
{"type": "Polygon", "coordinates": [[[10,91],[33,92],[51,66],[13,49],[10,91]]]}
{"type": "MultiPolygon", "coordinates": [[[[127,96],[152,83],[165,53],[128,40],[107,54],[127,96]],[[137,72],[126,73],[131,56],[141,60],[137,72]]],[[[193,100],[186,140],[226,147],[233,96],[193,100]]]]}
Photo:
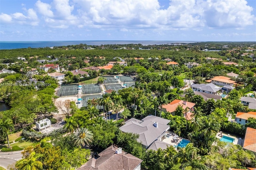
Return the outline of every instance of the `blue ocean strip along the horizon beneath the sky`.
{"type": "Polygon", "coordinates": [[[18,48],[39,48],[54,47],[66,45],[106,45],[106,44],[142,44],[142,45],[161,45],[171,43],[195,43],[192,41],[38,41],[38,42],[0,42],[0,49],[18,49],[18,48]]]}

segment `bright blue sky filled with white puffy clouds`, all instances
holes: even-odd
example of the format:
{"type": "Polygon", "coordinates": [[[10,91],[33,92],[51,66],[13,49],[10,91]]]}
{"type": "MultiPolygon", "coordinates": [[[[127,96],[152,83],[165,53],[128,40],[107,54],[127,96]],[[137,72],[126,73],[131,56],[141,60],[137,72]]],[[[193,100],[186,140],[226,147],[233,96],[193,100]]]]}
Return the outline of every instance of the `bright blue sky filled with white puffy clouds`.
{"type": "Polygon", "coordinates": [[[0,0],[0,41],[256,41],[256,0],[0,0]]]}

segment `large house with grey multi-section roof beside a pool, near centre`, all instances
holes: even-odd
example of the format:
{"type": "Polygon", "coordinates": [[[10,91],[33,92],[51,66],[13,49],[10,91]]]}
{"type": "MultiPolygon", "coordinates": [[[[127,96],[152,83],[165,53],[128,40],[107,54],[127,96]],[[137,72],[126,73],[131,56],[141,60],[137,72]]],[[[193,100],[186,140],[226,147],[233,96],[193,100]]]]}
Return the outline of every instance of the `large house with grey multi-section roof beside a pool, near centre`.
{"type": "Polygon", "coordinates": [[[148,148],[154,141],[164,139],[166,131],[170,128],[169,122],[170,120],[148,115],[141,121],[129,119],[119,129],[122,132],[138,134],[138,142],[141,142],[144,148],[148,148]]]}

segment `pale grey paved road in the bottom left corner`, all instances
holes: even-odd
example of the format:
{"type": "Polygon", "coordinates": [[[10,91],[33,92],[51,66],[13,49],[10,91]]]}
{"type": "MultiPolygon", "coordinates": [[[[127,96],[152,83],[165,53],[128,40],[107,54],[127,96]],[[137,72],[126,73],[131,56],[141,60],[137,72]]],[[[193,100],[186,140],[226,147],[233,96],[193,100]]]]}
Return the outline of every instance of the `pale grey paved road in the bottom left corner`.
{"type": "Polygon", "coordinates": [[[9,164],[13,164],[16,161],[22,159],[22,151],[15,152],[0,152],[0,166],[7,169],[9,164]]]}

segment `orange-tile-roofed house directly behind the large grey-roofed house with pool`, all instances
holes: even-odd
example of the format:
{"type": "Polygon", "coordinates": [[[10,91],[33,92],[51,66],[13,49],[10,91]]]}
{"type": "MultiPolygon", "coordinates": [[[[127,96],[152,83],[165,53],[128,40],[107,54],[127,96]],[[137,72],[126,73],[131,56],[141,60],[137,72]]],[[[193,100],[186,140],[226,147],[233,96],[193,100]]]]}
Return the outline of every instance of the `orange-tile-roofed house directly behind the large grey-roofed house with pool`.
{"type": "Polygon", "coordinates": [[[178,106],[181,106],[184,110],[188,107],[189,111],[188,113],[184,113],[184,118],[187,120],[191,120],[192,119],[192,111],[194,111],[194,106],[196,105],[196,103],[192,103],[192,102],[188,102],[188,101],[183,101],[183,100],[178,100],[175,99],[174,101],[172,101],[171,103],[168,103],[167,105],[163,105],[162,106],[162,111],[164,113],[166,112],[170,112],[173,116],[175,115],[175,111],[176,108],[178,106]]]}

